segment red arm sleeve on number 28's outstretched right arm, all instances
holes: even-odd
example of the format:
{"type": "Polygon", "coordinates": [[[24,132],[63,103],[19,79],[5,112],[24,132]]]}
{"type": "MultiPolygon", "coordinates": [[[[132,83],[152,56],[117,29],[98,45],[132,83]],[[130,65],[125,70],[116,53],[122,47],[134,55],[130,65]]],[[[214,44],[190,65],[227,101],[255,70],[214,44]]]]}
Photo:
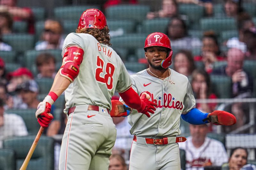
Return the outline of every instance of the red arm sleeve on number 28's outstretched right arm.
{"type": "Polygon", "coordinates": [[[128,105],[129,107],[132,107],[136,110],[141,109],[141,100],[139,95],[130,87],[128,90],[125,92],[119,93],[121,98],[124,100],[125,104],[128,105]]]}

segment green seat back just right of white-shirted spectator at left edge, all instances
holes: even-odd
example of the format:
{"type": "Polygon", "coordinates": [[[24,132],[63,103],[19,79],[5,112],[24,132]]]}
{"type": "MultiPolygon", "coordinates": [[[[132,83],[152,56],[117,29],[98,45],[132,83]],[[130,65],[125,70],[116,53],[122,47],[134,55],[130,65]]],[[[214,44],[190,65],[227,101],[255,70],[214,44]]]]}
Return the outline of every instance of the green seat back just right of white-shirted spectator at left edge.
{"type": "Polygon", "coordinates": [[[7,114],[13,113],[16,115],[20,115],[26,124],[28,133],[30,135],[37,134],[37,132],[40,128],[40,125],[37,122],[37,119],[35,116],[36,109],[8,109],[8,110],[5,110],[5,113],[7,113],[7,114]]]}

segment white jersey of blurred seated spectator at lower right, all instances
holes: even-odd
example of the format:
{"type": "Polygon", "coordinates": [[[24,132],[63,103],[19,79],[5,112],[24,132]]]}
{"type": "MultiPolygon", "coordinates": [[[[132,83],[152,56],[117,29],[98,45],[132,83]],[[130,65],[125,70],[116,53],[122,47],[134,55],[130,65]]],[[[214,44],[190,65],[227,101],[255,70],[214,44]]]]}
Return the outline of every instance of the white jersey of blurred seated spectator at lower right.
{"type": "Polygon", "coordinates": [[[186,170],[204,170],[202,166],[221,166],[228,162],[228,155],[224,145],[215,139],[205,138],[204,144],[195,148],[192,144],[192,137],[187,141],[179,143],[180,149],[186,151],[186,170]]]}

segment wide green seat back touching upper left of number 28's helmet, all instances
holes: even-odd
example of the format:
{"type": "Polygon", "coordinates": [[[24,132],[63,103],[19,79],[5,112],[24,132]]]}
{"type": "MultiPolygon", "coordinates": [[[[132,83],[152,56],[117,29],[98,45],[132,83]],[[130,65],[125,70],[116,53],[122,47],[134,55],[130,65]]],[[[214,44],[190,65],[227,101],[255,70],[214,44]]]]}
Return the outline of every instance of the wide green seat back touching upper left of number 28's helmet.
{"type": "Polygon", "coordinates": [[[54,8],[54,17],[60,20],[74,20],[78,24],[81,14],[90,8],[100,9],[98,5],[62,6],[54,8]]]}

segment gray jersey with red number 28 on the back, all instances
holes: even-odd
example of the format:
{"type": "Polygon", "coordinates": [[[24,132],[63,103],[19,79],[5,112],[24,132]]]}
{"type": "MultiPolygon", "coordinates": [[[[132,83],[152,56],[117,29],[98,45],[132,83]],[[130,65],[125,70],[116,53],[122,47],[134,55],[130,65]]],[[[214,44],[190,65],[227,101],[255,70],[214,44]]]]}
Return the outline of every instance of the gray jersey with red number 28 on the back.
{"type": "Polygon", "coordinates": [[[77,105],[96,105],[111,109],[114,92],[124,92],[132,80],[119,55],[92,35],[70,33],[63,43],[62,57],[69,46],[84,50],[77,78],[65,90],[66,108],[77,105]]]}

